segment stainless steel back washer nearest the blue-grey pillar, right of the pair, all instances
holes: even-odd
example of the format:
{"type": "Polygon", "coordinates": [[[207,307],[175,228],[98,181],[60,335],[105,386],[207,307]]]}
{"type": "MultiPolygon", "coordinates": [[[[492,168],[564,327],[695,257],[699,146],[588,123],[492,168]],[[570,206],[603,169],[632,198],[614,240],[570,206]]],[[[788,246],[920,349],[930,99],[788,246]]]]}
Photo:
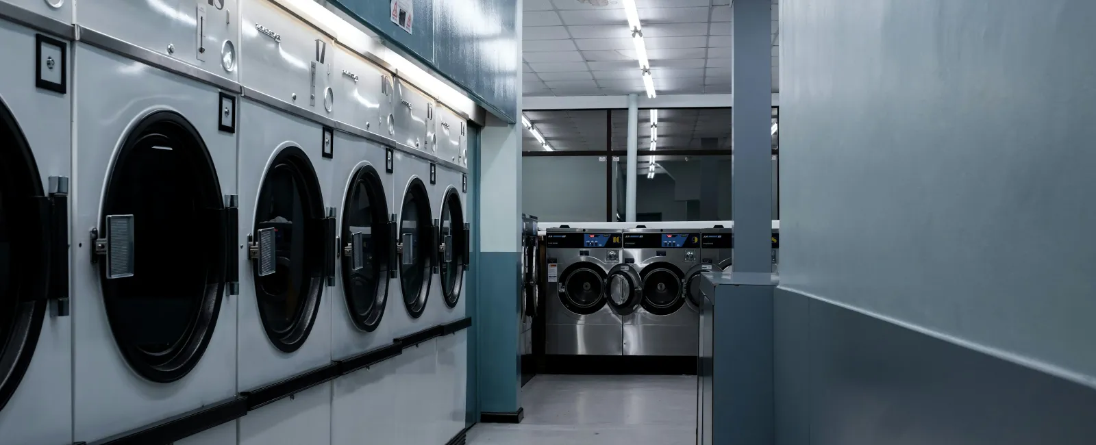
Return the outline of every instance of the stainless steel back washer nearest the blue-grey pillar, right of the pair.
{"type": "Polygon", "coordinates": [[[695,357],[699,312],[686,304],[684,289],[686,273],[700,264],[700,232],[627,229],[623,256],[643,287],[639,309],[624,318],[624,354],[695,357]]]}

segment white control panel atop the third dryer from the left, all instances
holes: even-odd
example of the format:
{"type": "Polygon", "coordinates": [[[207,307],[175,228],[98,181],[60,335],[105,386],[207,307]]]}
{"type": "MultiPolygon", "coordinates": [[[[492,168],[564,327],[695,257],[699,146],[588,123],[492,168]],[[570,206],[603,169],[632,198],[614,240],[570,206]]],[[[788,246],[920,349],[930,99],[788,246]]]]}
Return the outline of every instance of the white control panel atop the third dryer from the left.
{"type": "Polygon", "coordinates": [[[240,83],[331,117],[331,38],[271,1],[248,1],[241,14],[240,83]]]}

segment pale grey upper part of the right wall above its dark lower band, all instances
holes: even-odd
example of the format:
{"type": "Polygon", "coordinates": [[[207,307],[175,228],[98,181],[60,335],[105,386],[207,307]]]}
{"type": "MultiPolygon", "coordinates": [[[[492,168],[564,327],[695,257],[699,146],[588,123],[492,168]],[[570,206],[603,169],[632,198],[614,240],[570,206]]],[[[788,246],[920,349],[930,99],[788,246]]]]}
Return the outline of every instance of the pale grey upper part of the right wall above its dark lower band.
{"type": "Polygon", "coordinates": [[[1093,18],[781,1],[781,285],[1096,384],[1093,18]]]}

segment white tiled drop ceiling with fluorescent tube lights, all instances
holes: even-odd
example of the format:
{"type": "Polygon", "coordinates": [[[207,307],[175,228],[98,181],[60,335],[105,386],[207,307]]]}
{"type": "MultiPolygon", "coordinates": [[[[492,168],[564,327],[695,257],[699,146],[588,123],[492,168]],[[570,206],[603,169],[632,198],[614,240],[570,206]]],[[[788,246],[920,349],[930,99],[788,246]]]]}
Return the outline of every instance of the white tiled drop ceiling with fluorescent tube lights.
{"type": "MultiPolygon", "coordinates": [[[[527,0],[523,95],[642,93],[620,0],[527,0]],[[604,7],[592,4],[605,3],[604,7]]],[[[636,0],[655,89],[731,92],[730,0],[636,0]]],[[[773,0],[773,83],[778,84],[778,0],[773,0]]]]}

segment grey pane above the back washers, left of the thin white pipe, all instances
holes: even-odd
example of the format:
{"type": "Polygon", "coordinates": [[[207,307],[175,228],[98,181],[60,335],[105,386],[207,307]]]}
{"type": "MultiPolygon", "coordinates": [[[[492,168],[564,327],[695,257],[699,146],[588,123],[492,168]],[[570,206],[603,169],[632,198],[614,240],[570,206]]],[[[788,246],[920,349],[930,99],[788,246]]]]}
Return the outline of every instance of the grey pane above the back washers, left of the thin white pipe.
{"type": "Polygon", "coordinates": [[[604,221],[605,162],[596,156],[523,157],[522,213],[541,221],[604,221]]]}

